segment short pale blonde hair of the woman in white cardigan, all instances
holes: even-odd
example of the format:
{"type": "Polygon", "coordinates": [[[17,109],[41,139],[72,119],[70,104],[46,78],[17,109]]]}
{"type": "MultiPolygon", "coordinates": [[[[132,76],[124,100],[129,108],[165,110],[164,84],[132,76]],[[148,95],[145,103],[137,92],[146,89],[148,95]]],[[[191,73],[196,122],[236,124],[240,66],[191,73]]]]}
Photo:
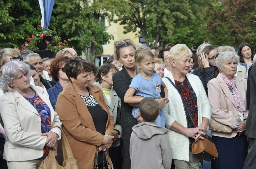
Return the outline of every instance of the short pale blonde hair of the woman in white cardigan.
{"type": "MultiPolygon", "coordinates": [[[[170,63],[171,60],[179,62],[181,57],[183,57],[184,55],[190,58],[192,56],[191,50],[185,44],[176,44],[170,49],[170,53],[168,54],[167,58],[170,63]]],[[[170,65],[172,67],[172,64],[170,65]]]]}

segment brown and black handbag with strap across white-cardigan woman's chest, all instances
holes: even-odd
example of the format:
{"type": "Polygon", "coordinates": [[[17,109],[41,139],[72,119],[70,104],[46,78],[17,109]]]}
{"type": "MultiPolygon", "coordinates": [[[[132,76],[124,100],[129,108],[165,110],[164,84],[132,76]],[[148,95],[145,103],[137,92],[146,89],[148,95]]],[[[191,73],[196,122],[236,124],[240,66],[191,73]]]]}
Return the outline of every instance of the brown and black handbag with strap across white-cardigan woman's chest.
{"type": "MultiPolygon", "coordinates": [[[[166,77],[174,86],[174,88],[177,90],[175,84],[171,81],[170,78],[166,77]]],[[[180,94],[180,92],[179,92],[180,94]]],[[[180,94],[181,96],[181,94],[180,94]]],[[[195,122],[190,114],[190,111],[187,107],[186,102],[184,101],[183,97],[181,96],[181,100],[183,102],[183,105],[185,106],[187,113],[189,115],[189,118],[193,124],[193,126],[196,128],[195,122]]],[[[210,136],[208,136],[207,134],[205,134],[204,139],[199,139],[197,142],[193,142],[192,143],[192,153],[197,155],[198,157],[204,159],[205,161],[213,161],[214,159],[216,159],[218,157],[218,152],[217,149],[213,143],[213,140],[210,136]]]]}

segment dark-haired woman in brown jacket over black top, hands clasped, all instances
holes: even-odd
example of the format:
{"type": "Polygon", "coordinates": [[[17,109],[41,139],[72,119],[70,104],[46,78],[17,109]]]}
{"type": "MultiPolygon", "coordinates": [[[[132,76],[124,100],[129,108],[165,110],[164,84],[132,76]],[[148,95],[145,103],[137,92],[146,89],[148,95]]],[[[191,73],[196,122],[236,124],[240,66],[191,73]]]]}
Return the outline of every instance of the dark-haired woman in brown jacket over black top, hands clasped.
{"type": "Polygon", "coordinates": [[[89,84],[90,63],[81,57],[71,57],[65,64],[65,72],[70,82],[58,96],[56,112],[73,155],[80,169],[88,169],[93,168],[99,150],[99,168],[107,167],[103,151],[112,145],[114,121],[102,91],[89,84]]]}

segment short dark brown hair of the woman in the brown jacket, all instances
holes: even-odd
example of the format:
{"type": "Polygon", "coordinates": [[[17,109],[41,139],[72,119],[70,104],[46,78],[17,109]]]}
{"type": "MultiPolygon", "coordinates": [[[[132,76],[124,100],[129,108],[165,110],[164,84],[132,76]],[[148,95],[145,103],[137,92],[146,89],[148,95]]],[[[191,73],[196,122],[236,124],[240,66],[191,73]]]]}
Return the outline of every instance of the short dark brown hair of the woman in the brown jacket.
{"type": "Polygon", "coordinates": [[[70,77],[77,78],[82,72],[91,72],[90,62],[81,57],[70,57],[65,64],[65,73],[70,77]]]}

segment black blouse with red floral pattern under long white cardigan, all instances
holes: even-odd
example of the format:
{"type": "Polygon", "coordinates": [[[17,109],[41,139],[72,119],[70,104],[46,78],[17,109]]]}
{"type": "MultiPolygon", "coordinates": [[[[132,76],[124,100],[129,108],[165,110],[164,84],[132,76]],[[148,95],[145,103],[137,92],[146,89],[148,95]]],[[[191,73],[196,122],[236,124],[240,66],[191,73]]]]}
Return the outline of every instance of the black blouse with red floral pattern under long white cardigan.
{"type": "MultiPolygon", "coordinates": [[[[175,80],[175,86],[177,87],[178,92],[181,93],[182,98],[186,102],[186,105],[188,107],[188,110],[190,111],[190,114],[194,120],[196,127],[198,127],[197,96],[191,84],[189,83],[187,77],[183,82],[175,80]]],[[[190,120],[189,114],[185,106],[184,106],[184,110],[187,118],[187,127],[194,128],[193,123],[190,120]]],[[[193,142],[194,142],[194,138],[189,138],[189,144],[192,145],[193,142]]]]}

